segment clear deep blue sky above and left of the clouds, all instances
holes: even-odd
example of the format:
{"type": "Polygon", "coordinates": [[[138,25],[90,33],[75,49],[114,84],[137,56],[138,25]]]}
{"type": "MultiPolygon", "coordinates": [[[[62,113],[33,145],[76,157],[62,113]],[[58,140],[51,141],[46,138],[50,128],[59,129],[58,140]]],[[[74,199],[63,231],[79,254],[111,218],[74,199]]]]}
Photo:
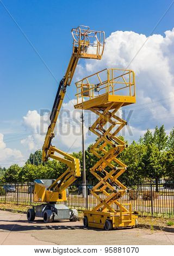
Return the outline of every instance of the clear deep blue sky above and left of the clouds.
{"type": "MultiPolygon", "coordinates": [[[[63,77],[72,52],[71,28],[87,25],[91,29],[105,31],[106,38],[115,31],[133,31],[148,36],[172,1],[1,2],[0,133],[4,135],[6,147],[24,151],[20,139],[30,130],[21,125],[22,117],[26,116],[29,110],[40,113],[40,109],[52,108],[57,91],[56,80],[59,81],[63,77]]],[[[173,12],[174,4],[153,34],[164,36],[165,31],[172,30],[173,12]]],[[[74,99],[75,93],[72,83],[68,92],[69,98],[74,99]]],[[[66,97],[65,102],[68,102],[69,98],[66,97]]],[[[24,154],[28,152],[29,150],[24,154]]],[[[2,160],[0,165],[6,164],[7,161],[2,160]]]]}

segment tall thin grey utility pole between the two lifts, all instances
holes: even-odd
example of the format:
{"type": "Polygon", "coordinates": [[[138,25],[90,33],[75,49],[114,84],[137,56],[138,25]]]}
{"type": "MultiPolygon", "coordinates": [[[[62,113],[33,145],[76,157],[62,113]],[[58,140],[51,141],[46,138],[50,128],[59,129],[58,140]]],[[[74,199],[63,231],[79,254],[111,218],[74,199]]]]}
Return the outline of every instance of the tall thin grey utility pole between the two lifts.
{"type": "Polygon", "coordinates": [[[84,115],[82,109],[82,155],[83,155],[83,197],[86,198],[86,166],[85,166],[85,147],[84,147],[84,115]]]}

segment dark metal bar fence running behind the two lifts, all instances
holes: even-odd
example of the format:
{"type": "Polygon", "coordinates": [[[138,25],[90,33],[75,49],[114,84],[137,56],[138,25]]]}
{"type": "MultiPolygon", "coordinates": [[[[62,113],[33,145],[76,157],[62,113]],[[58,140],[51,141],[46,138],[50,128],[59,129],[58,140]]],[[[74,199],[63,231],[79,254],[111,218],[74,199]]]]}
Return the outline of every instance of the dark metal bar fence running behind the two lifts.
{"type": "MultiPolygon", "coordinates": [[[[67,190],[67,201],[64,204],[79,210],[92,209],[99,202],[90,194],[94,184],[83,185],[76,182],[67,190]],[[86,196],[83,196],[86,188],[86,196]]],[[[157,186],[154,182],[129,182],[128,192],[120,199],[121,203],[132,203],[132,209],[142,215],[173,217],[174,216],[174,184],[163,182],[157,186]]],[[[33,202],[34,185],[0,185],[0,203],[20,205],[36,205],[33,202]],[[12,191],[13,190],[13,191],[12,191]]],[[[102,197],[103,195],[100,194],[102,197]]],[[[104,196],[103,196],[104,199],[104,196]]],[[[113,208],[116,209],[116,205],[113,208]]]]}

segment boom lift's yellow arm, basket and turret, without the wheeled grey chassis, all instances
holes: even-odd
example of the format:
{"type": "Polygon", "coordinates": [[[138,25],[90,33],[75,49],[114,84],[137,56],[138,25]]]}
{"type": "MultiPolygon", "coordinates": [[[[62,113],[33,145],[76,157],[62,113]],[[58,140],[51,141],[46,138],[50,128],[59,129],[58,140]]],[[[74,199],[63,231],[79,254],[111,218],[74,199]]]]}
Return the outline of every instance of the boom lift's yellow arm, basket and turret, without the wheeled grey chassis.
{"type": "Polygon", "coordinates": [[[63,103],[66,87],[70,86],[79,58],[101,59],[104,50],[104,32],[91,31],[89,27],[79,26],[73,28],[73,52],[64,78],[60,81],[58,93],[55,97],[51,124],[42,147],[42,161],[48,157],[67,165],[65,173],[60,175],[47,189],[42,184],[36,184],[34,190],[35,202],[62,202],[66,200],[65,190],[80,176],[80,163],[75,157],[55,148],[51,142],[54,137],[54,129],[63,103]],[[60,157],[63,156],[63,157],[60,157]],[[59,181],[59,182],[58,182],[59,181]]]}

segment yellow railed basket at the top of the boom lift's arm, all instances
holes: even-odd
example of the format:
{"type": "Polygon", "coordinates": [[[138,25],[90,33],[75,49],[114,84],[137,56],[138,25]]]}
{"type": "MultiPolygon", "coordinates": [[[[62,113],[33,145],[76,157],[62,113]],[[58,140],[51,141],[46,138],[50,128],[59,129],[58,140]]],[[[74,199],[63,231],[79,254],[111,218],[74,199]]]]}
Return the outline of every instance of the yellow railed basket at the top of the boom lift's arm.
{"type": "Polygon", "coordinates": [[[79,26],[73,28],[73,52],[76,53],[76,48],[80,47],[80,54],[95,54],[98,58],[102,57],[104,51],[104,32],[92,31],[87,26],[79,26]]]}

